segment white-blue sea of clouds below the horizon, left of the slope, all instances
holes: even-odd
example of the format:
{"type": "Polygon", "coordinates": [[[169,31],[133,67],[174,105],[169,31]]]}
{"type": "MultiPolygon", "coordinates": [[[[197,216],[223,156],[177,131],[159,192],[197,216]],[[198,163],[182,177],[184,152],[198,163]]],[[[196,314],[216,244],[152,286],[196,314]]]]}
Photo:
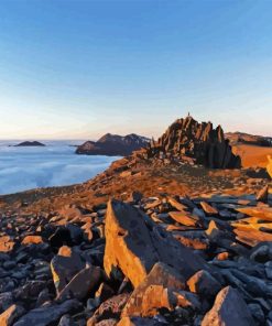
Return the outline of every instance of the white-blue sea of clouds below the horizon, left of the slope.
{"type": "Polygon", "coordinates": [[[75,142],[43,142],[45,148],[14,148],[0,142],[0,195],[36,187],[85,182],[118,157],[75,154],[75,142]]]}

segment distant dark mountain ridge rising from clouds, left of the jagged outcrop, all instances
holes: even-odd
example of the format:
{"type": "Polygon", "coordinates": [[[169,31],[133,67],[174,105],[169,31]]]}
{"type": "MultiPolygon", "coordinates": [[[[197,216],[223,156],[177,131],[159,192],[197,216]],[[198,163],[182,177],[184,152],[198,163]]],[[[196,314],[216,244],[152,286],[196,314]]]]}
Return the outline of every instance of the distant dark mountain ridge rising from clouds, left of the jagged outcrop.
{"type": "Polygon", "coordinates": [[[76,150],[76,154],[126,156],[146,146],[149,139],[134,133],[124,137],[107,133],[97,142],[86,141],[76,150]]]}

